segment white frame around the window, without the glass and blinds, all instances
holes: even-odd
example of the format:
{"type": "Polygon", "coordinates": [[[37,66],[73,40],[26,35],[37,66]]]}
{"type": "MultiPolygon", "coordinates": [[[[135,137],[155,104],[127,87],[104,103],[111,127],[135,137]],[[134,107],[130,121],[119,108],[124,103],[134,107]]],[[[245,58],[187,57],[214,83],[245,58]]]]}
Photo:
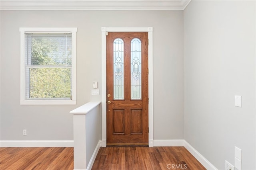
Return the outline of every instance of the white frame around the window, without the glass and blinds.
{"type": "Polygon", "coordinates": [[[21,105],[76,105],[76,27],[42,28],[20,27],[20,104],[21,105]],[[25,33],[71,32],[72,33],[72,100],[26,100],[25,95],[25,33]]]}

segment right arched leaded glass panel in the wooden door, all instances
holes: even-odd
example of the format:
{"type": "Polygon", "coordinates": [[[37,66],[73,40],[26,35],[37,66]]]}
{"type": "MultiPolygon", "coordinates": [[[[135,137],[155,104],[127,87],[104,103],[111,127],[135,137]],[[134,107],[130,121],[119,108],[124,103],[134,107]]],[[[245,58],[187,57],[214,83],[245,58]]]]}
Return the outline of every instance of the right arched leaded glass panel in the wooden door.
{"type": "Polygon", "coordinates": [[[141,99],[141,41],[134,38],[131,41],[131,99],[141,99]]]}

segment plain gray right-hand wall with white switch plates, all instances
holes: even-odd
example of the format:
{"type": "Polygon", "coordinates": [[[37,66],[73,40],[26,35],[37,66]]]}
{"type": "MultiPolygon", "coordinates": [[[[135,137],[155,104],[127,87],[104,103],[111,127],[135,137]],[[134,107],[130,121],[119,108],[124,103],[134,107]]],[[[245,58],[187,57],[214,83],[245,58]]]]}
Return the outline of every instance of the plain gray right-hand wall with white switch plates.
{"type": "Polygon", "coordinates": [[[195,1],[184,10],[184,137],[216,168],[255,167],[255,1],[195,1]],[[242,96],[242,107],[234,96],[242,96]]]}

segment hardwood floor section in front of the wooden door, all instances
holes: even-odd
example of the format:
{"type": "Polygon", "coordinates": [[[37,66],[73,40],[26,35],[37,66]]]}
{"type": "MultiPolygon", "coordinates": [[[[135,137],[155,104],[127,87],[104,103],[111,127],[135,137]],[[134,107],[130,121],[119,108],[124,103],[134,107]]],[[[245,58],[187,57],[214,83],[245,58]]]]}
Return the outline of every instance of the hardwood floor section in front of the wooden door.
{"type": "Polygon", "coordinates": [[[100,148],[92,170],[206,170],[185,147],[100,148]]]}

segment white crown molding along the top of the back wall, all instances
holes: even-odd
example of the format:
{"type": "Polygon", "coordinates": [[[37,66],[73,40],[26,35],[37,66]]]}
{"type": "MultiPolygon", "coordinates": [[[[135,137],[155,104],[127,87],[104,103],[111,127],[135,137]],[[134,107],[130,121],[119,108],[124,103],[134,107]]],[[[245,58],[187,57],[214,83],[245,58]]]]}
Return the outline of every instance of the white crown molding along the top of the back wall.
{"type": "Polygon", "coordinates": [[[0,10],[184,10],[191,0],[0,0],[0,10]]]}

